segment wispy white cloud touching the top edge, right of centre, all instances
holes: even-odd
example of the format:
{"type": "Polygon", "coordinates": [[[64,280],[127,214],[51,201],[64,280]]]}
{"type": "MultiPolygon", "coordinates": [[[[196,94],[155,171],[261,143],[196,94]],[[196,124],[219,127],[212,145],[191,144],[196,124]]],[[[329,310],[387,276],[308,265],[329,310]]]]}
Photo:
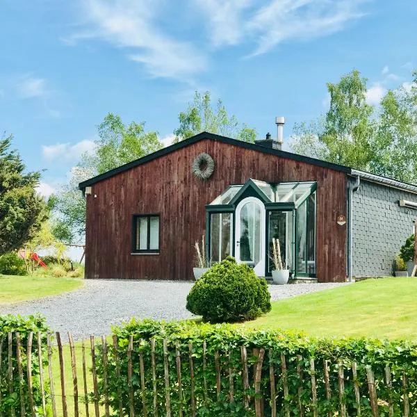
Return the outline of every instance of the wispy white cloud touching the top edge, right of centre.
{"type": "Polygon", "coordinates": [[[256,34],[258,47],[252,55],[264,54],[288,40],[318,38],[341,31],[363,17],[363,0],[272,0],[247,24],[256,34]]]}

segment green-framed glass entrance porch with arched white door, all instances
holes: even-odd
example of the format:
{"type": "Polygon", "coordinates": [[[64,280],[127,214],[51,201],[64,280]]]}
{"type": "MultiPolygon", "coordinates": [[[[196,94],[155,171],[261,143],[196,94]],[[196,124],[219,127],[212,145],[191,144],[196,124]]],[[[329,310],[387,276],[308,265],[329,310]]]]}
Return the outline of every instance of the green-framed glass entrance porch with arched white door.
{"type": "Polygon", "coordinates": [[[273,269],[272,239],[293,277],[316,277],[316,182],[266,183],[249,179],[229,186],[206,205],[207,256],[229,255],[256,275],[273,269]]]}

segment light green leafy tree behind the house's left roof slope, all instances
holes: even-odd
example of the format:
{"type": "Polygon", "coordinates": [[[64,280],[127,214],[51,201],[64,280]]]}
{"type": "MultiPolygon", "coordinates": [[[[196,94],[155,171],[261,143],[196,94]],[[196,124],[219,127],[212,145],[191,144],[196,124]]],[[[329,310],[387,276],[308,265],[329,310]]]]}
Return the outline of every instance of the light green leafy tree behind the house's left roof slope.
{"type": "Polygon", "coordinates": [[[63,243],[82,242],[85,233],[85,199],[80,182],[141,158],[163,147],[155,131],[145,132],[145,122],[125,125],[118,115],[108,113],[97,126],[95,150],[83,154],[72,170],[70,181],[50,199],[56,219],[52,231],[63,243]]]}

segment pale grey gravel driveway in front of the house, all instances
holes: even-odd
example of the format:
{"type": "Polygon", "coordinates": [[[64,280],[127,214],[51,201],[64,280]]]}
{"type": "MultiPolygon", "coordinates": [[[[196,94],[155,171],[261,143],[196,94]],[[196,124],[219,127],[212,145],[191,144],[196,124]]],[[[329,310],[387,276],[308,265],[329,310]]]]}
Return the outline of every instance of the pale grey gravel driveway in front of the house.
{"type": "MultiPolygon", "coordinates": [[[[272,300],[313,293],[344,284],[270,285],[272,300]]],[[[0,314],[42,313],[54,331],[71,331],[74,338],[108,334],[111,325],[135,316],[173,320],[190,318],[186,296],[192,282],[88,279],[71,293],[40,300],[0,305],[0,314]]]]}

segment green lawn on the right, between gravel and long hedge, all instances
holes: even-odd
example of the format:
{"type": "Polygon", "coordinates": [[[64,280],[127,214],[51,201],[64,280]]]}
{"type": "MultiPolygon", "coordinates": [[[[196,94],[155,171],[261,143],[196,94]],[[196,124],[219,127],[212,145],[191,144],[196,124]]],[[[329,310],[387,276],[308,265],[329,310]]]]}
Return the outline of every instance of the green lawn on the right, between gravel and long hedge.
{"type": "Polygon", "coordinates": [[[270,313],[245,327],[417,340],[417,278],[368,279],[273,302],[270,313]]]}

